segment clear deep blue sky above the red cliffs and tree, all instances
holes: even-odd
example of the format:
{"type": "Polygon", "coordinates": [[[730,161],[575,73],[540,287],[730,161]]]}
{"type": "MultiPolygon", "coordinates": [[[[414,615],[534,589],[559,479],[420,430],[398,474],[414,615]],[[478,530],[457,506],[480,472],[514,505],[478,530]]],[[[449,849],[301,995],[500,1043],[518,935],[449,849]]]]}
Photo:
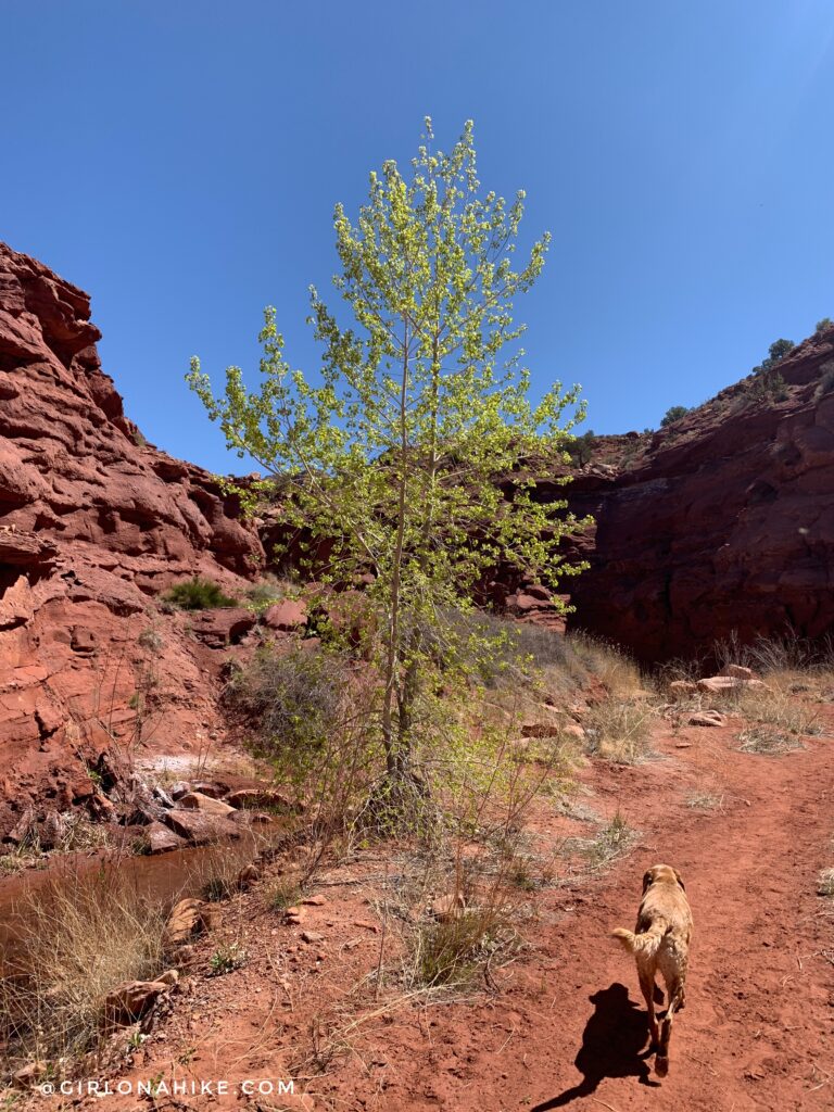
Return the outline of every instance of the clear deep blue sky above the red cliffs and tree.
{"type": "Polygon", "coordinates": [[[427,113],[553,232],[524,342],[596,431],[834,316],[832,0],[3,0],[0,39],[0,238],[92,295],[129,415],[215,470],[189,356],[252,366],[274,304],[316,366],[332,206],[427,113]]]}

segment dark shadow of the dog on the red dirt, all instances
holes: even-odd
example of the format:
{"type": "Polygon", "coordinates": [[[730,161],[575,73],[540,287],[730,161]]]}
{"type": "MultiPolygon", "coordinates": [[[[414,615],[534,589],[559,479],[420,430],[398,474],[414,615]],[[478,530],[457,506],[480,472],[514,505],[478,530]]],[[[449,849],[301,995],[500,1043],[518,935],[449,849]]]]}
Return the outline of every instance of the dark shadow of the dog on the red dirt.
{"type": "Polygon", "coordinates": [[[615,982],[588,999],[594,1011],[585,1024],[574,1063],[583,1080],[558,1096],[537,1104],[533,1112],[547,1112],[580,1096],[590,1096],[604,1078],[637,1078],[642,1085],[657,1086],[657,1082],[651,1080],[646,1062],[651,1054],[648,1016],[628,999],[626,986],[615,982]]]}

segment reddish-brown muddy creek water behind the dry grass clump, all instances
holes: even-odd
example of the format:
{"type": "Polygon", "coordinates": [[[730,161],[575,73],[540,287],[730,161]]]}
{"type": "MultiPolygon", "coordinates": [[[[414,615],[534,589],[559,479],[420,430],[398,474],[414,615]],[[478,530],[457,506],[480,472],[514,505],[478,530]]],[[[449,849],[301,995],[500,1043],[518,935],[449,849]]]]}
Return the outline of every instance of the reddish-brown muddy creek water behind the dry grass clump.
{"type": "Polygon", "coordinates": [[[49,867],[27,870],[0,880],[0,972],[24,944],[36,919],[34,909],[48,902],[50,894],[88,887],[97,898],[118,892],[136,900],[137,906],[169,907],[186,896],[201,896],[206,884],[216,877],[231,881],[266,846],[275,843],[285,830],[276,822],[257,834],[236,841],[176,850],[158,856],[130,856],[98,853],[72,854],[56,858],[49,867]]]}

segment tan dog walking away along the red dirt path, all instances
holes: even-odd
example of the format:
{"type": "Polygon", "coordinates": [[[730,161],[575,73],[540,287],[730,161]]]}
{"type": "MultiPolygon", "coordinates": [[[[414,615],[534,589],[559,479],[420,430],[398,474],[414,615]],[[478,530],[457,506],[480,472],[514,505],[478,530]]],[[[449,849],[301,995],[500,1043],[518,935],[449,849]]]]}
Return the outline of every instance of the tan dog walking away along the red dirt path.
{"type": "Polygon", "coordinates": [[[686,966],[689,962],[692,912],[681,874],[672,865],[653,865],[643,877],[643,901],[637,909],[633,933],[618,926],[612,931],[637,961],[637,975],[646,997],[652,1044],[657,1050],[655,1071],[665,1078],[669,1070],[669,1039],[675,1012],[684,1006],[686,966]],[[666,982],[668,1009],[659,1025],[655,1019],[655,975],[666,982]]]}

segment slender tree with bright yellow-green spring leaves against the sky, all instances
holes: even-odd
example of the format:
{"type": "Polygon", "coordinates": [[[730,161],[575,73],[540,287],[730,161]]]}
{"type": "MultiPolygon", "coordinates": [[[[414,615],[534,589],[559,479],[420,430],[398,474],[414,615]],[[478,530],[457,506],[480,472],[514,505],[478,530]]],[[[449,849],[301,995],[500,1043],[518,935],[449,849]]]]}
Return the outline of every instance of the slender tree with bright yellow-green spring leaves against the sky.
{"type": "Polygon", "coordinates": [[[481,192],[471,122],[448,153],[433,139],[427,119],[407,177],[394,161],[370,175],[355,224],[336,207],[334,284],[354,321],[339,322],[310,289],[319,379],[286,361],[272,308],[258,390],[239,367],[227,369],[219,397],[197,358],[188,375],[227,444],[268,473],[241,492],[246,504],[274,494],[279,477],[286,523],[330,538],[317,575],[336,584],[375,576],[367,626],[395,793],[423,790],[415,712],[437,644],[455,656],[453,615],[499,564],[550,583],[576,574],[558,542],[585,524],[563,500],[535,497],[536,480],[554,481],[567,461],[568,429],[584,417],[578,387],[557,383],[532,401],[515,345],[524,328],[513,301],[542,272],[549,237],[514,268],[524,193],[507,203],[481,192]]]}

